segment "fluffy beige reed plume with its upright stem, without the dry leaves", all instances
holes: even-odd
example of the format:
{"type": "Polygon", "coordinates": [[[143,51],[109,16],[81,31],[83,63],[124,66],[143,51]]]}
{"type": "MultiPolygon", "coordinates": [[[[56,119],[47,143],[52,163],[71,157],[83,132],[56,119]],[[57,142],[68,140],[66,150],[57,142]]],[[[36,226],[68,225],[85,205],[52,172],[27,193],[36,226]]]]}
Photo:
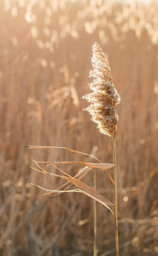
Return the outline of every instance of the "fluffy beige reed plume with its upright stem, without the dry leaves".
{"type": "Polygon", "coordinates": [[[91,93],[83,98],[90,102],[86,110],[91,115],[91,120],[98,124],[101,133],[113,138],[113,178],[114,178],[114,218],[115,218],[115,240],[116,256],[119,256],[118,243],[118,204],[117,204],[117,171],[116,171],[116,130],[118,124],[118,114],[115,106],[120,103],[120,95],[113,85],[110,67],[105,59],[102,49],[98,43],[92,45],[93,56],[91,59],[93,69],[90,71],[90,77],[93,81],[90,83],[91,93]]]}

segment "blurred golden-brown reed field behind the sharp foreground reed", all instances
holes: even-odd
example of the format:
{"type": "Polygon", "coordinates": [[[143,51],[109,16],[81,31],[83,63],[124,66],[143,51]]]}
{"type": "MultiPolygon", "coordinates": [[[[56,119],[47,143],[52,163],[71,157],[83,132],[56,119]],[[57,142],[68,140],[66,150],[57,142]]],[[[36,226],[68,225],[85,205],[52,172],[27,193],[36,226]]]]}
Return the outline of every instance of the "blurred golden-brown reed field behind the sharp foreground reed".
{"type": "MultiPolygon", "coordinates": [[[[121,96],[117,144],[121,256],[158,255],[158,2],[0,1],[0,255],[93,255],[93,200],[42,196],[62,181],[36,161],[112,163],[82,95],[89,93],[91,45],[98,42],[121,96]]],[[[61,167],[61,166],[60,166],[61,167]]],[[[49,167],[47,167],[49,168],[49,167]]],[[[80,166],[62,166],[75,175],[80,166]]],[[[58,173],[58,171],[54,172],[58,173]]],[[[113,202],[107,173],[97,191],[113,202]]],[[[111,171],[110,171],[111,173],[111,171]]],[[[112,175],[112,173],[111,173],[112,175]]],[[[83,179],[93,187],[93,171],[83,179]]],[[[114,221],[97,203],[98,255],[115,256],[114,221]]]]}

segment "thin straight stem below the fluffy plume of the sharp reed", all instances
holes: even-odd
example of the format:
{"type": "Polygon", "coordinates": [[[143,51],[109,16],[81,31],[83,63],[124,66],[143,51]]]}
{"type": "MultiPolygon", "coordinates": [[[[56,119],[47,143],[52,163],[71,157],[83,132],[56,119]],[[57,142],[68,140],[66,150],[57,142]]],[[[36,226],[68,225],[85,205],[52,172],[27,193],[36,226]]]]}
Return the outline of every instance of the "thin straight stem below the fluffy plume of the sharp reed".
{"type": "Polygon", "coordinates": [[[114,218],[115,218],[115,243],[116,243],[116,256],[119,256],[119,243],[118,243],[118,199],[117,199],[117,170],[116,170],[116,138],[113,138],[113,180],[114,180],[114,218]]]}

